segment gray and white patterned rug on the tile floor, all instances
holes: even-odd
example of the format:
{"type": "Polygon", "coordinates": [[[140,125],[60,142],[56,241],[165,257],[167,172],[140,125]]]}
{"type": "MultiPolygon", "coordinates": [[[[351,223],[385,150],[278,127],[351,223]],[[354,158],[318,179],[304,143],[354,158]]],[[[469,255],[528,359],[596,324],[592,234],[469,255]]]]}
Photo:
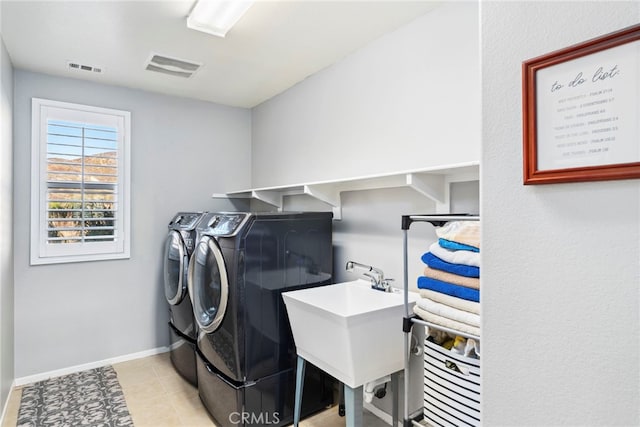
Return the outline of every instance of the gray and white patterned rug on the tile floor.
{"type": "Polygon", "coordinates": [[[133,426],[116,371],[111,366],[76,372],[26,386],[17,427],[133,426]]]}

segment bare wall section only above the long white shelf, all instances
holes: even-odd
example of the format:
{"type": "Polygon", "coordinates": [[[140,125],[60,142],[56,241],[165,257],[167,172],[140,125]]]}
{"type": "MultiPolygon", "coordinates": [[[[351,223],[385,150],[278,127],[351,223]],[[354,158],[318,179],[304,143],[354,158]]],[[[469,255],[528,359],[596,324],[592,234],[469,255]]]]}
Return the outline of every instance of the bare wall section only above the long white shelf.
{"type": "Polygon", "coordinates": [[[478,55],[477,4],[446,4],[255,107],[254,187],[478,161],[478,55]]]}

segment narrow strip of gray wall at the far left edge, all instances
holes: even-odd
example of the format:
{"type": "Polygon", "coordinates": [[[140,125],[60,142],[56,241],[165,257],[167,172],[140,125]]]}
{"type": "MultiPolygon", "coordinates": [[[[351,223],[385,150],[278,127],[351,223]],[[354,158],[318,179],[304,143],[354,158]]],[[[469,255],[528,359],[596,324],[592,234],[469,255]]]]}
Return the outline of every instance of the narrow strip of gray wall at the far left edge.
{"type": "Polygon", "coordinates": [[[0,38],[0,413],[14,379],[13,67],[0,38]]]}

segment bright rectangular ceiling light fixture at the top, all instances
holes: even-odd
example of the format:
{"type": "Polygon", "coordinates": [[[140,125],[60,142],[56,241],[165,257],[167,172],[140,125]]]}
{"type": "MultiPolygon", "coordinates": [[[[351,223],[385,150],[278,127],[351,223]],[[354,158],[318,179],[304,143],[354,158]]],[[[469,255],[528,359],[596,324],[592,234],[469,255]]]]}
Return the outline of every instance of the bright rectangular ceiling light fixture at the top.
{"type": "Polygon", "coordinates": [[[187,18],[187,27],[224,37],[252,4],[244,0],[199,0],[187,18]]]}

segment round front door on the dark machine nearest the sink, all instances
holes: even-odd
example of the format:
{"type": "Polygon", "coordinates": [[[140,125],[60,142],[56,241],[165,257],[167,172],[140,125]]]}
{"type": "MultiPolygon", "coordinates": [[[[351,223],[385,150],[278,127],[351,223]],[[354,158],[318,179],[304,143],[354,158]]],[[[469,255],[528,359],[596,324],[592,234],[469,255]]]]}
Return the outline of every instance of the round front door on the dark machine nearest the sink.
{"type": "Polygon", "coordinates": [[[227,310],[229,280],[222,251],[213,237],[198,242],[189,264],[189,294],[200,329],[212,333],[227,310]]]}

